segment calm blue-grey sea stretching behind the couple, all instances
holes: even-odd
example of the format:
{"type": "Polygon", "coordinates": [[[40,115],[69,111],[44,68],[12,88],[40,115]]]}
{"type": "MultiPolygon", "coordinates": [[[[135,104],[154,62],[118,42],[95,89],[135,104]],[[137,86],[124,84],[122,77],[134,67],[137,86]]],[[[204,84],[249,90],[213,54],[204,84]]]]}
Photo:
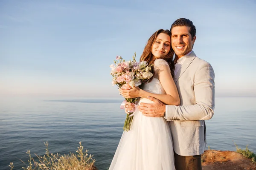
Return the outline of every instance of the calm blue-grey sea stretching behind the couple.
{"type": "MultiPolygon", "coordinates": [[[[93,155],[99,170],[108,170],[126,113],[121,98],[1,98],[0,170],[26,167],[32,157],[49,153],[76,153],[79,142],[93,155]],[[23,161],[23,162],[22,162],[23,161]]],[[[215,98],[215,113],[206,121],[207,146],[236,150],[248,145],[256,153],[256,98],[215,98]]]]}

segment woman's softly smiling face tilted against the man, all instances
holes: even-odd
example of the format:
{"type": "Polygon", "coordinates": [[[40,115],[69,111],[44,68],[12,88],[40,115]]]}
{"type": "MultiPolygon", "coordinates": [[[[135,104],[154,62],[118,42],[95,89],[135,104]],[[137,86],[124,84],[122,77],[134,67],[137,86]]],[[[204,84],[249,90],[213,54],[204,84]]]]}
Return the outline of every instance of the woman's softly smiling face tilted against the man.
{"type": "Polygon", "coordinates": [[[155,42],[152,45],[151,53],[156,58],[166,56],[171,49],[171,37],[167,34],[158,34],[155,42]]]}

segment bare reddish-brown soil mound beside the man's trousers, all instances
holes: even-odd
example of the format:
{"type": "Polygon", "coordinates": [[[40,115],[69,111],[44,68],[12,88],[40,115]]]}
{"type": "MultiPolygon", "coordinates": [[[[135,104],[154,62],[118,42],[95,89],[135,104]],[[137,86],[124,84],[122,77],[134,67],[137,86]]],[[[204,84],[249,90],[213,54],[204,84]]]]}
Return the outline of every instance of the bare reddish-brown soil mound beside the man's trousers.
{"type": "Polygon", "coordinates": [[[256,164],[234,151],[206,150],[201,159],[203,170],[256,170],[256,164]]]}

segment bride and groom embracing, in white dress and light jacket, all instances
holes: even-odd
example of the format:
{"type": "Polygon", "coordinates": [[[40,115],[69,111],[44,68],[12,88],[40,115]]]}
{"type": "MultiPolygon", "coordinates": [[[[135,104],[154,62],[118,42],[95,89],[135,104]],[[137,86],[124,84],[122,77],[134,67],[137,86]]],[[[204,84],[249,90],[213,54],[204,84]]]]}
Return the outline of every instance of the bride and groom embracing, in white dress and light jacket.
{"type": "MultiPolygon", "coordinates": [[[[153,64],[143,86],[119,89],[140,97],[131,130],[123,132],[109,170],[201,170],[206,147],[204,120],[214,113],[214,71],[192,51],[192,21],[177,19],[149,39],[140,57],[153,64]]],[[[134,105],[127,102],[125,112],[134,105]]]]}

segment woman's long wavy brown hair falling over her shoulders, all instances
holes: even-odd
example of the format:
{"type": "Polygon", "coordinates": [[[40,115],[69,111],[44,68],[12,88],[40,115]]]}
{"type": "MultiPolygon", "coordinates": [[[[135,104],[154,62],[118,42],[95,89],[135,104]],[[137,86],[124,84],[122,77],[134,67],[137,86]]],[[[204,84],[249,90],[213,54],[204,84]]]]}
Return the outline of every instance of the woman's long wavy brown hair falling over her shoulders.
{"type": "MultiPolygon", "coordinates": [[[[166,29],[166,30],[160,29],[160,30],[154,32],[154,34],[152,34],[151,37],[148,39],[148,42],[144,48],[143,54],[140,57],[140,61],[146,61],[146,62],[148,62],[149,65],[154,64],[155,57],[153,56],[151,50],[152,50],[153,43],[156,41],[157,36],[160,33],[167,34],[171,37],[171,32],[168,29],[166,29]]],[[[174,77],[174,69],[175,69],[173,55],[174,55],[174,51],[171,47],[169,53],[162,58],[162,59],[166,60],[166,62],[169,64],[172,77],[174,77]]],[[[154,74],[154,68],[152,69],[152,71],[153,71],[152,73],[154,74]]]]}

